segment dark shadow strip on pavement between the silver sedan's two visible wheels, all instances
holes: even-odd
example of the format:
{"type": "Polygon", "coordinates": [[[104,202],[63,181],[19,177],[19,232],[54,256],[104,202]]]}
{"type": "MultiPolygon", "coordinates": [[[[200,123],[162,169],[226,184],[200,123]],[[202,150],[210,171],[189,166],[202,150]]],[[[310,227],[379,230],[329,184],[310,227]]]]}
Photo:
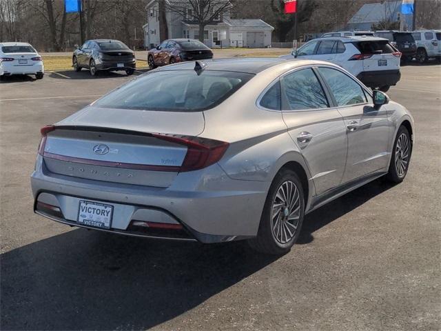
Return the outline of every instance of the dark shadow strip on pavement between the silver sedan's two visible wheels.
{"type": "Polygon", "coordinates": [[[356,209],[378,194],[393,188],[393,186],[392,183],[384,181],[382,178],[376,179],[307,214],[297,243],[310,243],[314,240],[313,233],[318,229],[351,212],[351,210],[356,209]]]}

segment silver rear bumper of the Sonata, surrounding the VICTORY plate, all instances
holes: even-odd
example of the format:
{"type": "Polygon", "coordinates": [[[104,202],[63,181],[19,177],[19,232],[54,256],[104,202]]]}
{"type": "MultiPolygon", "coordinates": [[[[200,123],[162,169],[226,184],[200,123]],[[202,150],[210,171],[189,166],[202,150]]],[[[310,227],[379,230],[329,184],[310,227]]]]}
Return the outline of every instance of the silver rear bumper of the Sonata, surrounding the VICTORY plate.
{"type": "Polygon", "coordinates": [[[34,212],[54,221],[87,228],[76,221],[79,201],[88,200],[113,206],[112,225],[106,231],[202,243],[256,236],[268,186],[229,179],[217,164],[178,174],[169,188],[92,181],[52,174],[40,156],[31,184],[34,212]],[[134,221],[182,226],[178,232],[166,225],[167,231],[152,233],[149,228],[134,229],[134,221]]]}

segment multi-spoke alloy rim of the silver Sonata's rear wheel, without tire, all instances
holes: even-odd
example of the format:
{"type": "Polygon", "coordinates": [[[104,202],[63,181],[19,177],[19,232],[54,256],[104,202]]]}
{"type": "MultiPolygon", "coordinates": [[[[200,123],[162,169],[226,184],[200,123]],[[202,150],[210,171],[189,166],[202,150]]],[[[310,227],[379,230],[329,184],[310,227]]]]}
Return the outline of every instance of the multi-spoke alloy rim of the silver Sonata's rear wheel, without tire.
{"type": "Polygon", "coordinates": [[[271,230],[278,243],[286,244],[296,235],[300,220],[300,192],[292,181],[284,181],[271,207],[271,230]]]}

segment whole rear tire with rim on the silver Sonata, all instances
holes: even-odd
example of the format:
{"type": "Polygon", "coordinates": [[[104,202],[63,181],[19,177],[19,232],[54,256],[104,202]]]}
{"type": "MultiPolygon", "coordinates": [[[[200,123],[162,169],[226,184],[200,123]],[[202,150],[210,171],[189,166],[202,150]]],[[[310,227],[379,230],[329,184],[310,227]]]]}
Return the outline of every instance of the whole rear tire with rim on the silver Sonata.
{"type": "Polygon", "coordinates": [[[280,170],[269,188],[257,236],[249,239],[249,245],[265,254],[289,252],[300,234],[304,214],[300,179],[292,170],[280,170]]]}

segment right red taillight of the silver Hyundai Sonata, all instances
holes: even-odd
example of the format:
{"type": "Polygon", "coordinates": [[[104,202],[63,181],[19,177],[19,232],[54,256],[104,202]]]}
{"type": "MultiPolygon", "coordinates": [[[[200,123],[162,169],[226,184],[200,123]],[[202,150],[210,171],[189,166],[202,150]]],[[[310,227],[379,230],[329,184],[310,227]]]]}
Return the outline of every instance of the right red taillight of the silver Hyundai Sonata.
{"type": "Polygon", "coordinates": [[[223,157],[229,146],[229,143],[224,141],[199,137],[168,134],[152,134],[152,136],[187,147],[187,154],[179,170],[180,172],[198,170],[216,163],[223,157]]]}

